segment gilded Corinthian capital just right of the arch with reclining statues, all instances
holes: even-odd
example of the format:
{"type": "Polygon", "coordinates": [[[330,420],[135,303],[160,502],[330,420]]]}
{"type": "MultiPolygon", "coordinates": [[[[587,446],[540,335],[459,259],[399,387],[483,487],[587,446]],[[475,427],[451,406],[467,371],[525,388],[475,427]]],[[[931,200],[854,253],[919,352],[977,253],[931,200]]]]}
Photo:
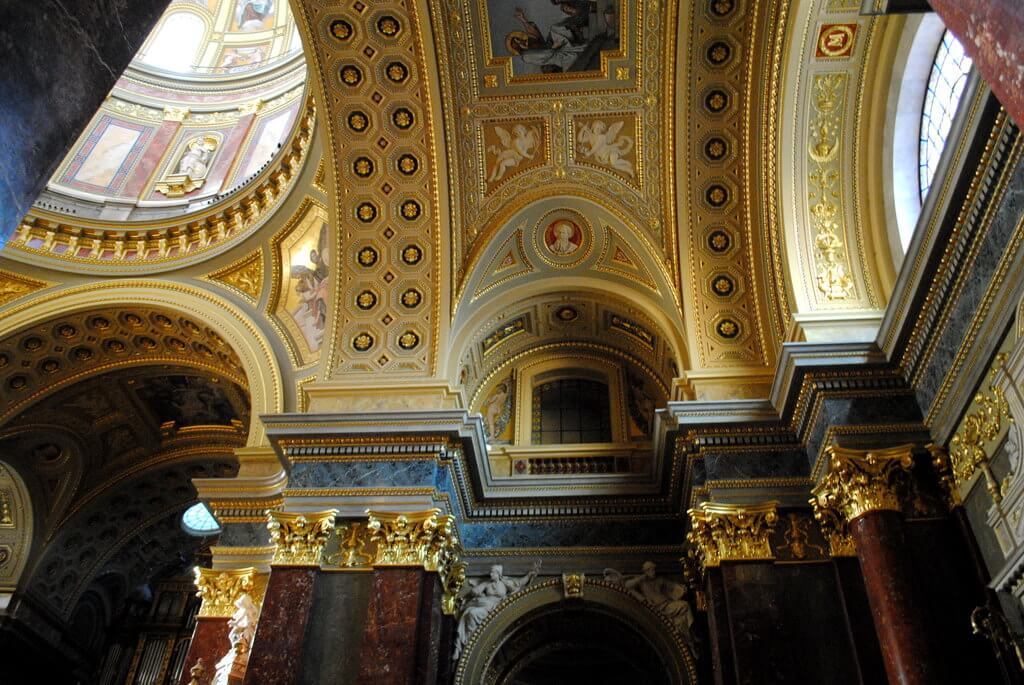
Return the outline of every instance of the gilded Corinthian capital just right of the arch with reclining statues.
{"type": "Polygon", "coordinates": [[[775,558],[769,539],[778,520],[777,502],[755,505],[701,503],[690,509],[686,540],[696,547],[702,565],[723,561],[763,561],[775,558]]]}

